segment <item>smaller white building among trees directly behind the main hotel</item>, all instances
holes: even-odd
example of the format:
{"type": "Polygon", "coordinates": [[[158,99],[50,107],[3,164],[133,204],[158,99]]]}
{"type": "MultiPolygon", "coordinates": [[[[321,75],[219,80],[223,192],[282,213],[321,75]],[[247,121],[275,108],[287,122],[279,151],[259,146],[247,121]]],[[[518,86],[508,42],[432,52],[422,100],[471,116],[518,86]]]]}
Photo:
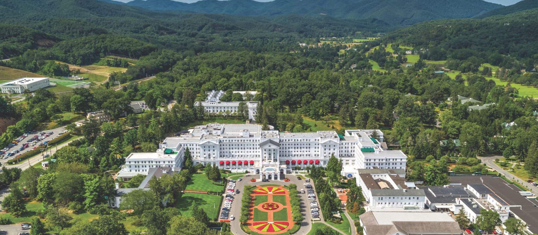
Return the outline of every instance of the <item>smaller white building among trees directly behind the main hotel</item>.
{"type": "MultiPolygon", "coordinates": [[[[243,95],[243,99],[246,97],[246,93],[252,94],[254,96],[256,91],[234,91],[233,93],[240,93],[243,95]]],[[[236,113],[237,108],[239,107],[239,101],[221,101],[221,97],[224,96],[224,91],[210,91],[207,92],[207,100],[201,102],[195,102],[195,105],[199,103],[206,108],[206,112],[209,114],[225,114],[226,111],[229,111],[230,114],[236,113]]],[[[257,101],[241,101],[245,102],[247,108],[249,109],[249,119],[254,120],[256,118],[256,108],[258,107],[257,101]]]]}

